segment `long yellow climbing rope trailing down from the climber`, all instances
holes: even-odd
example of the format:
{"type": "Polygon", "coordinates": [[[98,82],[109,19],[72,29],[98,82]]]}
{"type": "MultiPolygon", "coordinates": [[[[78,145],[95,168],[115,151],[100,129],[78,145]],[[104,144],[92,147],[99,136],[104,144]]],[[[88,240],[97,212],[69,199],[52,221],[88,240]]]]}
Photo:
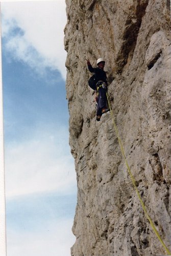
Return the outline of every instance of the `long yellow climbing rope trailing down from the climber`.
{"type": "Polygon", "coordinates": [[[152,221],[152,219],[150,218],[150,216],[148,215],[148,212],[147,212],[147,210],[146,210],[146,208],[145,208],[145,205],[144,205],[144,203],[143,203],[143,201],[142,201],[142,199],[141,199],[141,196],[140,196],[139,191],[138,191],[137,186],[136,186],[136,182],[135,182],[134,176],[133,176],[133,174],[132,174],[132,172],[131,172],[131,168],[130,168],[130,166],[129,166],[129,164],[128,164],[128,161],[127,161],[127,158],[126,158],[126,155],[125,155],[123,143],[121,142],[121,139],[120,139],[120,136],[119,136],[119,133],[118,133],[118,130],[117,130],[117,126],[116,126],[116,123],[115,123],[115,121],[114,121],[113,111],[112,111],[112,109],[111,109],[111,105],[110,105],[110,102],[109,102],[108,93],[106,93],[106,95],[107,95],[107,100],[108,100],[108,104],[109,104],[109,109],[110,109],[111,118],[112,118],[112,120],[113,120],[114,130],[115,130],[115,133],[116,133],[116,136],[117,136],[119,145],[120,145],[120,150],[121,150],[121,153],[123,154],[123,157],[124,157],[124,159],[125,159],[125,163],[126,163],[126,166],[127,166],[127,169],[128,169],[128,173],[130,174],[131,181],[132,181],[133,186],[134,186],[134,188],[135,188],[135,191],[136,191],[136,193],[137,193],[138,199],[139,199],[139,201],[140,201],[140,203],[141,203],[141,206],[142,206],[142,208],[143,208],[143,211],[145,212],[146,218],[149,220],[152,229],[153,229],[154,232],[156,233],[157,238],[158,238],[159,241],[161,242],[161,244],[162,244],[162,246],[164,247],[164,249],[166,250],[166,252],[167,252],[169,255],[171,255],[171,252],[170,252],[169,249],[166,247],[166,245],[164,244],[162,238],[160,237],[160,234],[159,234],[159,232],[157,231],[157,229],[155,228],[155,226],[154,226],[154,224],[153,224],[153,221],[152,221]]]}

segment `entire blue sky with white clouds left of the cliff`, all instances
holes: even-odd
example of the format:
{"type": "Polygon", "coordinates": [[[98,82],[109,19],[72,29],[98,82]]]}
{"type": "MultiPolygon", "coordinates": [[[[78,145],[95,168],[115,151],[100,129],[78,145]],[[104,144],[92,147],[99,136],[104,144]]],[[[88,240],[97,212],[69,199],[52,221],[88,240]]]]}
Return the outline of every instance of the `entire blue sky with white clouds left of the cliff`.
{"type": "Polygon", "coordinates": [[[65,2],[3,2],[1,14],[7,256],[68,256],[77,188],[65,2]]]}

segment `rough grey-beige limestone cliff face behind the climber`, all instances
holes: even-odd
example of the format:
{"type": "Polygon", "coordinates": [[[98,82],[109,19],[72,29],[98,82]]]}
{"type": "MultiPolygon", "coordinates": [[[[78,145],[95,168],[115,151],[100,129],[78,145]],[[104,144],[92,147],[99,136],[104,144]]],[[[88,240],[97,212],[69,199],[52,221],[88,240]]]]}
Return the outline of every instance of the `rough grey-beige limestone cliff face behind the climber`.
{"type": "Polygon", "coordinates": [[[78,203],[72,256],[166,255],[127,172],[110,113],[88,87],[106,59],[109,99],[148,214],[171,250],[171,36],[168,0],[66,0],[66,91],[78,203]]]}

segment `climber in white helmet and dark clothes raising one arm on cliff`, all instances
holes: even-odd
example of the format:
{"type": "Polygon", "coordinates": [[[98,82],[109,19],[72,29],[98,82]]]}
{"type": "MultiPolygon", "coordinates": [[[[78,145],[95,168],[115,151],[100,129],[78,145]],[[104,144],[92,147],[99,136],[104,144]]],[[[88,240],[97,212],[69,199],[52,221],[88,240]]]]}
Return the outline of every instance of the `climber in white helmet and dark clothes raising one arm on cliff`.
{"type": "Polygon", "coordinates": [[[96,120],[100,121],[102,114],[110,111],[107,107],[107,76],[104,71],[105,60],[103,58],[97,59],[97,68],[91,66],[90,60],[87,60],[87,66],[91,73],[95,74],[96,78],[96,100],[97,100],[97,110],[96,110],[96,120]]]}

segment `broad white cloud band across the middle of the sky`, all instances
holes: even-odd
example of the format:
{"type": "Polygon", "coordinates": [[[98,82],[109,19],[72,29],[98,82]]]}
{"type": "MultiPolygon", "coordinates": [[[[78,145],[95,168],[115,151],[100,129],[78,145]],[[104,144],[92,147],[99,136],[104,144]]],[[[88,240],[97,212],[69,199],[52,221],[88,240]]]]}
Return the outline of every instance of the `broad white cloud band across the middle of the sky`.
{"type": "Polygon", "coordinates": [[[74,159],[69,154],[67,131],[41,132],[30,141],[5,146],[6,196],[76,190],[74,159]]]}

